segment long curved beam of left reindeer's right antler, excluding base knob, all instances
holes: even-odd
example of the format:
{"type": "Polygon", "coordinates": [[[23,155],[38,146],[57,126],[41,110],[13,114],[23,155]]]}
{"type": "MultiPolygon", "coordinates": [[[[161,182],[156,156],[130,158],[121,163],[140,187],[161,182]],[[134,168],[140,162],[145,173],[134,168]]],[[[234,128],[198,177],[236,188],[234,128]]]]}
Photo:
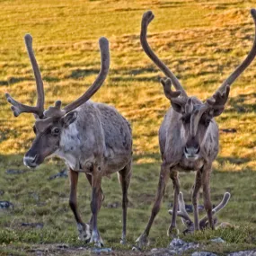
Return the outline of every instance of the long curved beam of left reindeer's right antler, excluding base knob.
{"type": "Polygon", "coordinates": [[[78,98],[75,102],[72,102],[63,109],[66,111],[66,113],[75,110],[77,107],[82,105],[84,102],[87,102],[94,93],[96,93],[102,86],[103,82],[105,81],[109,69],[110,69],[110,49],[109,49],[109,41],[102,37],[99,40],[100,49],[101,49],[101,56],[102,56],[102,66],[101,71],[99,75],[97,76],[94,83],[91,85],[91,87],[82,95],[80,98],[78,98]]]}

